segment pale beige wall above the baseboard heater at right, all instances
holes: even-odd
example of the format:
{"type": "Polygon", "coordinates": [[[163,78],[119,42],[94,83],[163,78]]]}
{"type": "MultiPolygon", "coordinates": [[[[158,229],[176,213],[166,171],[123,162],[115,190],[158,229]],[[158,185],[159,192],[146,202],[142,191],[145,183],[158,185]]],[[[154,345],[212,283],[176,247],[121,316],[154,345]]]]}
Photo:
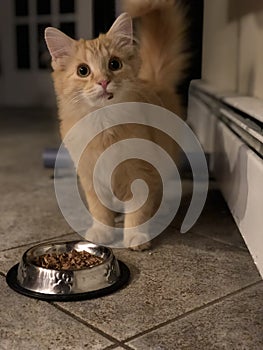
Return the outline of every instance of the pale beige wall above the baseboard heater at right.
{"type": "Polygon", "coordinates": [[[203,79],[263,99],[263,1],[205,0],[203,79]]]}

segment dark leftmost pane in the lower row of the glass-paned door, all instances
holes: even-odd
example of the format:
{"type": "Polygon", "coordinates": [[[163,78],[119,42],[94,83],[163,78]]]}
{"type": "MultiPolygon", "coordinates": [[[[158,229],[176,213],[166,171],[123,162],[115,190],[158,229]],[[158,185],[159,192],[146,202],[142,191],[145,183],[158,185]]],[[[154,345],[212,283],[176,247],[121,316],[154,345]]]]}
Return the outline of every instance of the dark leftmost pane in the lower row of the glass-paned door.
{"type": "Polygon", "coordinates": [[[27,24],[16,26],[16,59],[17,68],[30,68],[29,27],[27,24]]]}

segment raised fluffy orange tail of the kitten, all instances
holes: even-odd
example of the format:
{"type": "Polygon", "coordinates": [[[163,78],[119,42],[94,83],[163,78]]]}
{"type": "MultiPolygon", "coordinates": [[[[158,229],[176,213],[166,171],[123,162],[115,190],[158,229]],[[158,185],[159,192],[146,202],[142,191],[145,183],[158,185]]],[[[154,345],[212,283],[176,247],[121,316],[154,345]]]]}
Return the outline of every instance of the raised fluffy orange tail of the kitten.
{"type": "Polygon", "coordinates": [[[189,64],[186,9],[180,0],[126,0],[125,11],[139,17],[140,78],[173,90],[189,64]]]}

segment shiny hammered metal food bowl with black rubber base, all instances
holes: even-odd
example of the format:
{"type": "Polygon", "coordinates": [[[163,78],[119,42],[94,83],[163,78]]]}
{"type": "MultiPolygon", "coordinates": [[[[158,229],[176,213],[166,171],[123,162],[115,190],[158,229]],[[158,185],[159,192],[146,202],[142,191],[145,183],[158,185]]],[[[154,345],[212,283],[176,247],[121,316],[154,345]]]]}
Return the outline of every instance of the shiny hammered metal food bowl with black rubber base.
{"type": "Polygon", "coordinates": [[[40,244],[28,249],[6,277],[15,291],[42,300],[73,301],[103,296],[121,288],[129,279],[129,269],[112,250],[88,241],[40,244]],[[70,270],[39,267],[35,259],[44,254],[86,251],[100,257],[98,265],[70,270]]]}

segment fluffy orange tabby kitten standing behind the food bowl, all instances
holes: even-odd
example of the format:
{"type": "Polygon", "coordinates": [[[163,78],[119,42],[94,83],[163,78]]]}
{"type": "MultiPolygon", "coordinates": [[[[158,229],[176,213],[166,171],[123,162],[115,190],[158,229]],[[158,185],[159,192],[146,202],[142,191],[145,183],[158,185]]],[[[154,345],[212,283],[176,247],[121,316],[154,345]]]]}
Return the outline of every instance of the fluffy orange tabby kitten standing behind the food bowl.
{"type": "MultiPolygon", "coordinates": [[[[124,8],[127,12],[116,19],[108,33],[94,40],[75,41],[55,28],[46,29],[62,138],[88,113],[110,104],[147,102],[183,116],[175,93],[188,62],[183,8],[173,0],[127,0],[124,8]],[[140,18],[139,44],[133,40],[131,16],[140,18]]],[[[93,167],[109,145],[130,137],[158,142],[176,159],[175,145],[168,137],[137,124],[104,131],[92,141],[82,154],[78,175],[91,214],[111,227],[116,213],[98,200],[92,184],[93,167]]],[[[125,228],[140,225],[154,214],[161,198],[160,177],[150,164],[133,159],[113,173],[112,188],[117,198],[127,201],[131,198],[130,184],[137,178],[147,182],[149,197],[140,210],[125,215],[124,244],[144,250],[150,247],[148,232],[130,234],[125,228]]],[[[114,237],[110,230],[102,232],[94,224],[88,239],[107,244],[114,237]]]]}

